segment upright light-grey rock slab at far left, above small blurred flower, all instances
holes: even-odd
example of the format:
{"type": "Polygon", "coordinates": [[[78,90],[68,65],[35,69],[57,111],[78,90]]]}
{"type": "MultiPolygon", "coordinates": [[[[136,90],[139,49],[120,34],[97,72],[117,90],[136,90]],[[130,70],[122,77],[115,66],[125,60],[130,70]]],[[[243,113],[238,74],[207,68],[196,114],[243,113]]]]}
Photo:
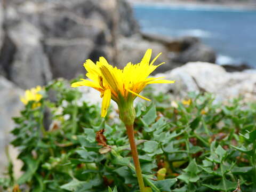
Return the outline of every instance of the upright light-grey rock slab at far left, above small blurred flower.
{"type": "Polygon", "coordinates": [[[52,74],[40,31],[29,22],[21,21],[9,26],[7,33],[15,46],[15,53],[9,52],[13,54],[13,62],[8,67],[11,81],[24,89],[49,82],[52,74]]]}

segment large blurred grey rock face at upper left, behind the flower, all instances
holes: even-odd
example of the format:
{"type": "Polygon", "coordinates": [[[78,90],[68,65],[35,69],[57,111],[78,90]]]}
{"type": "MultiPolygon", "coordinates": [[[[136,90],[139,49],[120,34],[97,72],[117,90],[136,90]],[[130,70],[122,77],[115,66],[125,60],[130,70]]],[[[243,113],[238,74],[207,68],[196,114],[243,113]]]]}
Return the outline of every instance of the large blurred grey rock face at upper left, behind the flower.
{"type": "MultiPolygon", "coordinates": [[[[110,63],[115,63],[116,39],[119,36],[129,37],[138,32],[132,9],[124,0],[63,0],[54,3],[41,0],[11,0],[7,5],[5,47],[9,49],[4,47],[5,56],[0,58],[0,63],[6,77],[25,88],[34,84],[44,84],[51,76],[70,79],[78,74],[84,74],[81,66],[88,58],[96,61],[103,56],[110,63]],[[18,30],[14,31],[15,28],[18,30]],[[18,39],[14,36],[28,36],[28,33],[32,33],[31,28],[34,28],[31,41],[35,43],[37,38],[38,49],[35,49],[31,41],[28,42],[28,38],[18,39]],[[26,45],[26,50],[23,50],[24,47],[21,45],[26,45]],[[21,81],[23,77],[15,81],[12,78],[17,75],[15,71],[22,69],[20,73],[27,76],[24,66],[31,67],[27,61],[34,60],[27,57],[27,54],[32,53],[32,50],[35,50],[36,54],[33,54],[39,57],[40,61],[37,63],[41,62],[40,66],[47,70],[47,74],[35,74],[39,79],[34,84],[28,84],[26,79],[21,81]],[[46,62],[50,62],[51,70],[48,70],[49,64],[46,62]],[[45,81],[42,81],[42,78],[45,81]]],[[[34,67],[37,68],[38,65],[34,67]]]]}

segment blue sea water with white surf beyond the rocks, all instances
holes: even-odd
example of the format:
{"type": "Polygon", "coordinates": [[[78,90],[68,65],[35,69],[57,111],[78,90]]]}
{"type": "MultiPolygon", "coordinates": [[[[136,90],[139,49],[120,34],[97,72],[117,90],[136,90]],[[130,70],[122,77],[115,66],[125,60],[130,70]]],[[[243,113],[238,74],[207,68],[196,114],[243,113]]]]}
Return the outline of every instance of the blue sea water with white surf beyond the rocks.
{"type": "Polygon", "coordinates": [[[217,62],[256,68],[256,11],[221,7],[135,5],[142,31],[171,37],[196,36],[213,47],[217,62]]]}

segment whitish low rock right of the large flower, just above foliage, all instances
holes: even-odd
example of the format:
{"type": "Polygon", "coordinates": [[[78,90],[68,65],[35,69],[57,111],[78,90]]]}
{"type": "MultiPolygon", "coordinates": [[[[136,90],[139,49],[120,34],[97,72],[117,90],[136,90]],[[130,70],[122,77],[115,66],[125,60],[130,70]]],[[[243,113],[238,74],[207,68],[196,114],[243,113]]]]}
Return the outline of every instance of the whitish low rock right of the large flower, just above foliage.
{"type": "Polygon", "coordinates": [[[256,99],[256,71],[250,73],[228,73],[223,67],[206,62],[189,62],[182,67],[157,74],[167,79],[176,80],[174,84],[163,84],[157,92],[173,93],[177,97],[186,97],[189,91],[210,92],[217,95],[218,100],[243,95],[245,100],[256,99]]]}

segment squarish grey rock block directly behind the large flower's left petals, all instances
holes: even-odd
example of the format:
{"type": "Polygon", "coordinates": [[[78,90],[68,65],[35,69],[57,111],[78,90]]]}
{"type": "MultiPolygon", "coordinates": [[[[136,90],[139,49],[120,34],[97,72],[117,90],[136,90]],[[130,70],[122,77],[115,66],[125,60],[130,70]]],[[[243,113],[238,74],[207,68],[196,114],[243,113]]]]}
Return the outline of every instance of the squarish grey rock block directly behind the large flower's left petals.
{"type": "Polygon", "coordinates": [[[47,39],[45,51],[51,63],[53,76],[71,79],[85,74],[83,63],[87,58],[98,59],[100,56],[105,56],[111,61],[112,53],[111,49],[108,49],[109,47],[94,50],[95,47],[91,47],[92,44],[87,38],[47,39]]]}

